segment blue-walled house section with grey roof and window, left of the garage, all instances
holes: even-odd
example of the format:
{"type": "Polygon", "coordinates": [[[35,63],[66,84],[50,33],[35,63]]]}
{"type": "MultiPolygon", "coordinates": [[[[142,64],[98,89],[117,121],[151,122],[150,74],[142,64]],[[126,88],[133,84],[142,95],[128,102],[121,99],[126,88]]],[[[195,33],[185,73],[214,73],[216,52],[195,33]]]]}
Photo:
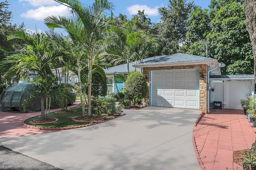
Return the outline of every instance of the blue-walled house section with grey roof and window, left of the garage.
{"type": "MultiPolygon", "coordinates": [[[[149,57],[149,58],[143,59],[143,62],[149,61],[152,59],[158,59],[158,58],[165,57],[165,56],[166,55],[149,57]]],[[[135,64],[135,62],[129,63],[129,70],[134,71],[136,69],[136,71],[140,71],[140,68],[135,68],[134,66],[132,66],[133,64],[135,64]]],[[[108,86],[109,92],[117,93],[118,90],[122,90],[124,88],[123,82],[119,82],[118,80],[116,80],[116,76],[117,76],[117,74],[123,74],[123,75],[128,74],[127,64],[113,66],[113,67],[104,69],[104,71],[105,71],[106,77],[107,77],[107,86],[108,86]]]]}

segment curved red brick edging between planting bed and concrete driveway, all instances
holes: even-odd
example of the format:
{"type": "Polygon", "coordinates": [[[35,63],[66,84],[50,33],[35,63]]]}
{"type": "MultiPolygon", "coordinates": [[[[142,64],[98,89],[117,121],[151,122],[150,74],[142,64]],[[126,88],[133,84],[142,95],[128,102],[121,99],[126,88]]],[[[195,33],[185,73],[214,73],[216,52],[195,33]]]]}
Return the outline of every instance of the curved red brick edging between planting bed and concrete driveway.
{"type": "MultiPolygon", "coordinates": [[[[122,117],[124,115],[126,115],[126,114],[124,113],[123,115],[120,115],[118,117],[122,117]]],[[[99,123],[110,121],[112,119],[116,119],[118,117],[113,117],[111,119],[108,119],[108,120],[105,120],[105,121],[101,121],[101,122],[92,123],[92,124],[72,126],[72,127],[36,127],[36,126],[33,126],[33,125],[28,125],[26,123],[22,123],[22,125],[25,126],[25,127],[31,128],[31,129],[36,129],[36,130],[61,131],[61,130],[77,129],[77,128],[81,128],[81,127],[96,125],[96,124],[99,124],[99,123]]]]}

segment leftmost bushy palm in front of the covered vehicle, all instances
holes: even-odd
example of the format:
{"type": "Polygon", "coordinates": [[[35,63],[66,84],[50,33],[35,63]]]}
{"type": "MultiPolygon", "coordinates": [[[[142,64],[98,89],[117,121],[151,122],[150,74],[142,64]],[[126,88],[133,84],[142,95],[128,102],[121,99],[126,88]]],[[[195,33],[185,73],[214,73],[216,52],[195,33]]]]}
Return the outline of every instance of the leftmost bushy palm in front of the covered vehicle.
{"type": "Polygon", "coordinates": [[[20,79],[28,79],[30,71],[39,74],[36,82],[40,83],[37,84],[38,90],[41,88],[41,119],[47,119],[44,113],[44,97],[50,90],[46,85],[53,84],[50,64],[54,57],[59,55],[58,51],[54,50],[56,49],[54,44],[50,43],[49,38],[43,33],[29,34],[25,31],[16,31],[8,36],[8,40],[10,39],[22,39],[27,46],[21,50],[21,53],[10,55],[1,63],[11,65],[3,77],[10,80],[12,76],[17,75],[20,79]]]}

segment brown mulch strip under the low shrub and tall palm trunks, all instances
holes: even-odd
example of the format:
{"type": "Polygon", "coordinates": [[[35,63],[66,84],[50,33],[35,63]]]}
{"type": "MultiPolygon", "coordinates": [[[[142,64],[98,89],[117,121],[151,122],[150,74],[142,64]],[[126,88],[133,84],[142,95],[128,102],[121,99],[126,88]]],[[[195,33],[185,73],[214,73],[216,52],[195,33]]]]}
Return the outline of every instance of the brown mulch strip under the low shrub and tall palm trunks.
{"type": "Polygon", "coordinates": [[[97,116],[93,116],[93,117],[83,117],[83,116],[76,116],[76,117],[73,117],[72,120],[73,121],[80,121],[80,122],[92,122],[92,123],[95,123],[95,122],[103,122],[103,121],[106,121],[106,120],[110,120],[110,119],[114,119],[116,117],[120,117],[122,116],[120,113],[115,113],[114,115],[111,115],[109,116],[108,114],[100,114],[100,115],[97,115],[97,116]]]}

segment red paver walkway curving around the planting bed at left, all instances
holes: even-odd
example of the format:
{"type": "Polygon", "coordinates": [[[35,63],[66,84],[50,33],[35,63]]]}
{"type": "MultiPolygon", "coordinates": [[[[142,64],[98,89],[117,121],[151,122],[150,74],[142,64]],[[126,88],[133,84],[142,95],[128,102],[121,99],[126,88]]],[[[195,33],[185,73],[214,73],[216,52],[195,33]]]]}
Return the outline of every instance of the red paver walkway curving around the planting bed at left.
{"type": "MultiPolygon", "coordinates": [[[[68,108],[76,107],[80,103],[79,100],[74,102],[68,108]]],[[[56,111],[59,109],[51,109],[50,112],[56,111]]],[[[20,113],[19,111],[12,112],[0,112],[0,138],[5,137],[20,137],[27,135],[35,135],[40,133],[50,133],[55,131],[47,131],[47,130],[36,130],[30,129],[28,127],[24,127],[22,123],[33,116],[40,115],[41,112],[33,112],[33,113],[20,113]]]]}

